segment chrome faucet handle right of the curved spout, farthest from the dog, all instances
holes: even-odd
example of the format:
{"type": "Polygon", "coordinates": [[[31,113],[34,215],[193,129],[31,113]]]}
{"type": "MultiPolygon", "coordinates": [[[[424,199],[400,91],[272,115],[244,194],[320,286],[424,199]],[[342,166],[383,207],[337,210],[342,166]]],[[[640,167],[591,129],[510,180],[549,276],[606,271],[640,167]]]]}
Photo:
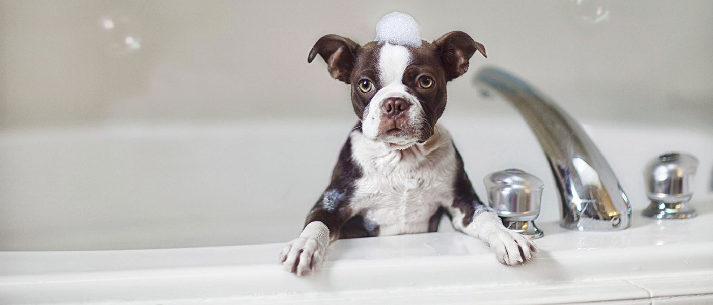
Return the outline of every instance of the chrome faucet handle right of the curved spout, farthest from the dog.
{"type": "Polygon", "coordinates": [[[698,159],[670,152],[650,161],[644,169],[646,195],[651,204],[643,214],[651,218],[691,218],[696,210],[687,205],[693,196],[698,159]]]}

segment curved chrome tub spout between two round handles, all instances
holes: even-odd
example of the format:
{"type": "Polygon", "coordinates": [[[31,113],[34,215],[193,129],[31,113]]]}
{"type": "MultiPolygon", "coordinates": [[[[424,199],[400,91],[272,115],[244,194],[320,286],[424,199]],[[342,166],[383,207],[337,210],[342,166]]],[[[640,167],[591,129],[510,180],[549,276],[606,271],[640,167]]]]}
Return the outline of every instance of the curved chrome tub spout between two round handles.
{"type": "Polygon", "coordinates": [[[560,225],[580,231],[623,230],[631,222],[629,198],[580,124],[542,93],[509,73],[486,67],[476,86],[510,102],[540,141],[560,195],[560,225]]]}

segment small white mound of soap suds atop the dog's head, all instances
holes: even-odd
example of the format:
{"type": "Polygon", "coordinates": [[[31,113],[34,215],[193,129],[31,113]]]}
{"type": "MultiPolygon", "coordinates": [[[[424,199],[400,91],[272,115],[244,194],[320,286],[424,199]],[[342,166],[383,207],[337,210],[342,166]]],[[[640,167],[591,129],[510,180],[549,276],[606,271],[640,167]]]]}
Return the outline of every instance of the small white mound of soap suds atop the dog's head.
{"type": "Polygon", "coordinates": [[[386,14],[376,24],[376,43],[399,46],[421,46],[421,27],[409,14],[399,11],[386,14]]]}

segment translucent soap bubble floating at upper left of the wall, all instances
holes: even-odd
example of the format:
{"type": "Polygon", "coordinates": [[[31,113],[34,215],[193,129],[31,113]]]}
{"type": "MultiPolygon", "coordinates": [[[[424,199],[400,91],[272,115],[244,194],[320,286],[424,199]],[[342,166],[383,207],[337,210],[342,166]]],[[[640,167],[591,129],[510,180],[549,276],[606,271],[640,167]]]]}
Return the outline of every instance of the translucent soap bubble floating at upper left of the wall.
{"type": "Polygon", "coordinates": [[[106,40],[107,50],[115,55],[127,55],[141,48],[141,38],[135,25],[124,14],[110,14],[99,18],[99,26],[106,40]]]}

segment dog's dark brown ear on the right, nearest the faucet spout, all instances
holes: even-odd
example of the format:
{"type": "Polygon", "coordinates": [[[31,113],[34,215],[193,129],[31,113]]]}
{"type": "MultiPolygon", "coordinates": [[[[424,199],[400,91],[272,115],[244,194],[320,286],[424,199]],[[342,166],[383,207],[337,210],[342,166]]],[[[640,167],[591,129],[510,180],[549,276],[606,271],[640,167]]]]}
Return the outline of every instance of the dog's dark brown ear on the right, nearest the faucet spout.
{"type": "Polygon", "coordinates": [[[471,59],[476,50],[480,51],[486,58],[486,47],[477,41],[473,41],[463,31],[452,31],[441,36],[434,41],[438,48],[438,56],[441,57],[441,65],[446,70],[446,81],[463,75],[468,70],[468,60],[471,59]]]}

